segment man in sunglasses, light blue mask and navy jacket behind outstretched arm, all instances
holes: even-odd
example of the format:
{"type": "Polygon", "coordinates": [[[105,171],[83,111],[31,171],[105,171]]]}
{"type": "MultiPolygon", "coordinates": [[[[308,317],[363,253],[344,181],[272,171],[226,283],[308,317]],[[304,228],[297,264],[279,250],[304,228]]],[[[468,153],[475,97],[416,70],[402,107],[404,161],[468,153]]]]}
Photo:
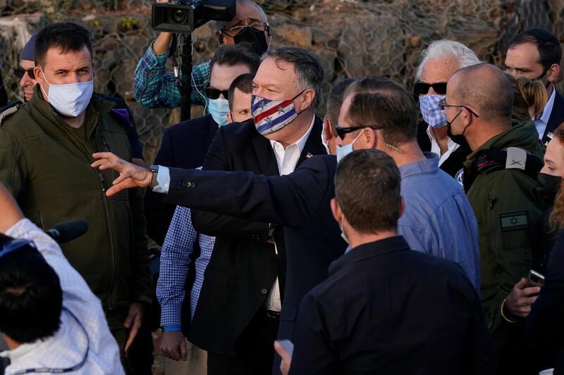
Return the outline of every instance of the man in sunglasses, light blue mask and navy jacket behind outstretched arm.
{"type": "MultiPolygon", "coordinates": [[[[231,116],[228,101],[231,83],[239,75],[256,72],[259,66],[259,56],[247,49],[247,46],[248,44],[227,44],[216,51],[210,61],[212,72],[209,86],[205,88],[209,115],[168,127],[164,131],[161,147],[154,160],[156,165],[196,168],[204,163],[204,156],[218,126],[226,125],[228,117],[231,116]]],[[[247,101],[248,106],[250,98],[247,101]]],[[[247,114],[244,120],[249,117],[250,114],[247,114]]],[[[145,193],[147,235],[159,245],[164,241],[174,209],[175,205],[164,203],[160,194],[152,191],[145,193]]]]}

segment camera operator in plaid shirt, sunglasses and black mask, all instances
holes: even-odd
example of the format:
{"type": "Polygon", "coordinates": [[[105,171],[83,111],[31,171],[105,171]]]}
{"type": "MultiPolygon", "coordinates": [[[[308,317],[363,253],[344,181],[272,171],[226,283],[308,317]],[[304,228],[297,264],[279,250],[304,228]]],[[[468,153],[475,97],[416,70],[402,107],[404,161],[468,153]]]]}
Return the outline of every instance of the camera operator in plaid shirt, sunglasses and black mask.
{"type": "MultiPolygon", "coordinates": [[[[157,0],[159,3],[168,0],[157,0]]],[[[228,23],[215,22],[219,44],[248,42],[258,55],[262,55],[270,44],[270,29],[266,13],[251,0],[237,0],[237,12],[228,23]]],[[[152,42],[145,56],[135,69],[135,99],[147,108],[177,108],[180,106],[180,80],[173,73],[166,73],[166,59],[173,34],[161,32],[152,42]]],[[[209,61],[192,68],[192,106],[206,106],[204,88],[209,84],[209,61]]],[[[207,108],[206,108],[207,110],[207,108]]]]}

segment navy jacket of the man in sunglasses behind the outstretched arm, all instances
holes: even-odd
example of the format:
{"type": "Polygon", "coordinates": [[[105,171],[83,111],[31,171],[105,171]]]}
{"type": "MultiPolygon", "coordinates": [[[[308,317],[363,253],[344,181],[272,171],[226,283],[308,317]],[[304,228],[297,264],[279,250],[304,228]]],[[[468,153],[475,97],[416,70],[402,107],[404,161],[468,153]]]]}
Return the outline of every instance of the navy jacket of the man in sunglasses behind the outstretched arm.
{"type": "MultiPolygon", "coordinates": [[[[201,167],[216,132],[217,124],[212,115],[183,121],[169,127],[164,131],[161,148],[154,164],[175,168],[201,167]]],[[[147,189],[145,193],[147,235],[159,245],[164,242],[175,207],[176,205],[163,202],[161,194],[147,189]]]]}

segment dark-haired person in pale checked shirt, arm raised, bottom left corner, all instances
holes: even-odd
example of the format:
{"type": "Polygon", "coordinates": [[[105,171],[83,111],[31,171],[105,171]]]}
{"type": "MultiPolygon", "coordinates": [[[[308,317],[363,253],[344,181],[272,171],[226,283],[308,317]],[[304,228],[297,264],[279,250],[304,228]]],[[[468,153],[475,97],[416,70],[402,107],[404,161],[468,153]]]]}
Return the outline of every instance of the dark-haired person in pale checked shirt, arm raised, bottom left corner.
{"type": "Polygon", "coordinates": [[[0,331],[6,374],[123,374],[100,300],[0,184],[0,331]]]}

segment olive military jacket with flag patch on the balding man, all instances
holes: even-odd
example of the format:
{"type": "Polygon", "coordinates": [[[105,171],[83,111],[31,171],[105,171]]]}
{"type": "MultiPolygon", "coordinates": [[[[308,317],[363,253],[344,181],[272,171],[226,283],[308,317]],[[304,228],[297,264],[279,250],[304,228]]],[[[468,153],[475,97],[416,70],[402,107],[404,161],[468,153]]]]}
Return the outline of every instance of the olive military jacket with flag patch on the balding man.
{"type": "MultiPolygon", "coordinates": [[[[465,175],[479,150],[522,148],[542,160],[542,147],[532,121],[512,127],[489,139],[468,155],[465,175]]],[[[534,193],[536,181],[522,170],[504,169],[479,174],[470,190],[468,201],[474,209],[479,229],[482,265],[482,307],[486,323],[494,334],[503,323],[500,307],[521,277],[527,277],[532,255],[527,226],[540,213],[534,193]]]]}

